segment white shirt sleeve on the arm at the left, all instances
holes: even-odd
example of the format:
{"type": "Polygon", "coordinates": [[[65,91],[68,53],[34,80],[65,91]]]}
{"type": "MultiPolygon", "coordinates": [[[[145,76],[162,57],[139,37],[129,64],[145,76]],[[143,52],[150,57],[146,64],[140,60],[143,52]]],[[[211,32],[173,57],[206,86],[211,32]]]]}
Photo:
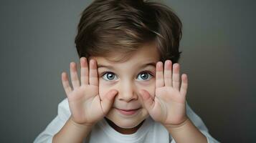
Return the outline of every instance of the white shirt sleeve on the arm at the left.
{"type": "Polygon", "coordinates": [[[34,143],[52,143],[52,137],[62,129],[67,119],[69,119],[70,114],[70,107],[67,98],[65,98],[58,104],[57,117],[37,136],[34,143]]]}

